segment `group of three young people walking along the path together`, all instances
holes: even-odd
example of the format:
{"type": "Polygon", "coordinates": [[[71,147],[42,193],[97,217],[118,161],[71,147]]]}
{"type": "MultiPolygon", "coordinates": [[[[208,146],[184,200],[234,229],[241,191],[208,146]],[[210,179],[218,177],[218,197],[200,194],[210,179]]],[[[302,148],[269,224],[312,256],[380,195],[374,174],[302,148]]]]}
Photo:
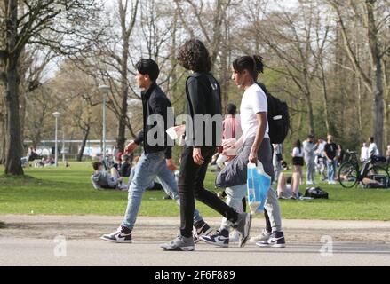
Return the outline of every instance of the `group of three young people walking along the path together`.
{"type": "MultiPolygon", "coordinates": [[[[241,128],[243,135],[236,139],[227,139],[222,143],[223,154],[230,161],[221,170],[216,179],[218,187],[227,188],[235,201],[225,203],[211,191],[204,188],[204,178],[212,156],[221,146],[220,129],[213,118],[222,114],[219,82],[211,74],[211,57],[209,51],[199,40],[189,40],[179,49],[179,63],[191,71],[186,82],[187,117],[192,123],[177,126],[175,130],[185,129],[186,145],[180,157],[179,181],[176,182],[173,171],[177,166],[172,160],[169,136],[164,135],[163,144],[154,145],[149,138],[153,136],[154,125],[148,123],[153,114],[163,117],[164,132],[168,123],[168,110],[171,102],[156,83],[159,67],[152,59],[141,59],[136,65],[136,81],[142,91],[143,130],[138,138],[125,151],[132,153],[139,145],[143,145],[144,153],[134,170],[134,177],[129,186],[128,204],[123,223],[114,233],[105,234],[101,239],[114,242],[131,242],[136,218],[142,200],[142,194],[148,185],[159,177],[163,188],[171,193],[172,199],[180,207],[179,236],[160,246],[166,251],[191,251],[196,241],[205,241],[221,247],[229,243],[229,230],[238,234],[238,245],[245,246],[251,230],[250,213],[244,213],[237,207],[246,193],[246,172],[249,162],[262,162],[267,174],[274,177],[272,165],[272,146],[268,136],[267,97],[257,83],[259,73],[263,72],[262,58],[259,56],[243,56],[232,64],[232,80],[243,91],[241,102],[241,128]],[[199,128],[196,119],[201,115],[206,127],[199,128]],[[206,133],[206,130],[211,130],[206,133]],[[191,133],[191,135],[189,135],[191,133]],[[211,137],[210,137],[211,136],[211,137]],[[233,153],[233,154],[232,154],[233,153]],[[224,217],[219,230],[211,234],[211,227],[195,209],[195,199],[224,217]]],[[[161,122],[160,122],[161,124],[161,122]]],[[[241,205],[242,208],[242,205],[241,205]]],[[[269,190],[266,202],[266,229],[251,240],[259,246],[284,247],[281,210],[274,190],[269,190]]]]}

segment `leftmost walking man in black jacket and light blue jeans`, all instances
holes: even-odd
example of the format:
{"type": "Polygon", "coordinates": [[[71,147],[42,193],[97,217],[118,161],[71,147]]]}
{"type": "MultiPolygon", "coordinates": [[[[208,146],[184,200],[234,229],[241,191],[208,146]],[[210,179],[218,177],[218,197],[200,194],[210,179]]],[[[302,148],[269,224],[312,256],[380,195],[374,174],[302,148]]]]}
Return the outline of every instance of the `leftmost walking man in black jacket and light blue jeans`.
{"type": "MultiPolygon", "coordinates": [[[[138,138],[126,146],[125,152],[132,153],[140,143],[143,143],[144,153],[134,171],[129,187],[129,201],[122,225],[114,232],[101,236],[102,240],[113,242],[131,242],[131,231],[135,225],[142,194],[158,177],[163,189],[171,198],[179,203],[178,185],[173,172],[177,170],[171,156],[173,141],[169,141],[165,131],[168,128],[168,113],[171,102],[164,92],[155,83],[159,75],[159,68],[152,59],[141,59],[136,65],[136,80],[142,91],[143,130],[138,138]],[[154,119],[155,120],[154,120],[154,119]]],[[[199,212],[192,211],[196,229],[202,233],[211,231],[199,212]]]]}

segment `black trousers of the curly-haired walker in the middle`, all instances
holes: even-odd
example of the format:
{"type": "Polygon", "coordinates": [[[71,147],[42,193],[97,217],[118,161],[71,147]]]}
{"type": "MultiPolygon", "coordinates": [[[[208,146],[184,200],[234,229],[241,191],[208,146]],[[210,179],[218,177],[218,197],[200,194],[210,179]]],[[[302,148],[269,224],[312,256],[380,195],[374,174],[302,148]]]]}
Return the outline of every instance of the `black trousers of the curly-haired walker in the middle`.
{"type": "Polygon", "coordinates": [[[237,220],[238,214],[235,212],[235,209],[229,207],[224,201],[221,201],[215,193],[206,190],[203,185],[207,167],[216,150],[215,146],[203,146],[201,148],[204,158],[204,163],[201,166],[194,162],[192,146],[185,146],[181,153],[178,182],[180,196],[180,233],[186,238],[192,236],[195,198],[219,212],[227,220],[231,222],[237,220]]]}

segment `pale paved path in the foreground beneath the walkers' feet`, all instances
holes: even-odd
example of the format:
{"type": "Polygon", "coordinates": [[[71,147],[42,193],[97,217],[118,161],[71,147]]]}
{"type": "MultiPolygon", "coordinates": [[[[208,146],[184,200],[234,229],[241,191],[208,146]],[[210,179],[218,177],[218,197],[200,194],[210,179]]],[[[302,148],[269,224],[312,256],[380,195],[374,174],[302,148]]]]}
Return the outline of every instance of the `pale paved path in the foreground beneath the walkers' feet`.
{"type": "MultiPolygon", "coordinates": [[[[132,244],[100,241],[121,217],[0,216],[0,265],[390,265],[390,222],[284,220],[287,248],[217,248],[163,252],[178,218],[140,217],[132,244]],[[64,241],[65,240],[65,241],[64,241]]],[[[219,218],[208,218],[219,225],[219,218]]],[[[255,219],[252,234],[262,220],[255,219]]]]}

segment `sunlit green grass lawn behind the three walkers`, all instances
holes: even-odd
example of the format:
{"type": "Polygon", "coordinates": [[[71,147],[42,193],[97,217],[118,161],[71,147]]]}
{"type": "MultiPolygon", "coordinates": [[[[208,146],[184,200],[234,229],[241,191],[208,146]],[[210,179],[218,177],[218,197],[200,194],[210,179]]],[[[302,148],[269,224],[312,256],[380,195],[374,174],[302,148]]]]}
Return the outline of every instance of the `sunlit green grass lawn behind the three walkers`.
{"type": "MultiPolygon", "coordinates": [[[[26,177],[0,175],[0,214],[123,216],[127,193],[94,190],[90,162],[72,162],[70,168],[28,168],[25,173],[26,177]]],[[[207,188],[214,188],[214,178],[214,173],[208,174],[207,188]]],[[[390,220],[390,190],[319,186],[330,194],[329,200],[283,200],[283,218],[390,220]]],[[[301,193],[305,187],[301,185],[301,193]]],[[[146,192],[139,215],[179,217],[179,207],[173,201],[163,200],[164,195],[163,191],[146,192]]],[[[200,202],[196,206],[204,217],[219,217],[200,202]]]]}

